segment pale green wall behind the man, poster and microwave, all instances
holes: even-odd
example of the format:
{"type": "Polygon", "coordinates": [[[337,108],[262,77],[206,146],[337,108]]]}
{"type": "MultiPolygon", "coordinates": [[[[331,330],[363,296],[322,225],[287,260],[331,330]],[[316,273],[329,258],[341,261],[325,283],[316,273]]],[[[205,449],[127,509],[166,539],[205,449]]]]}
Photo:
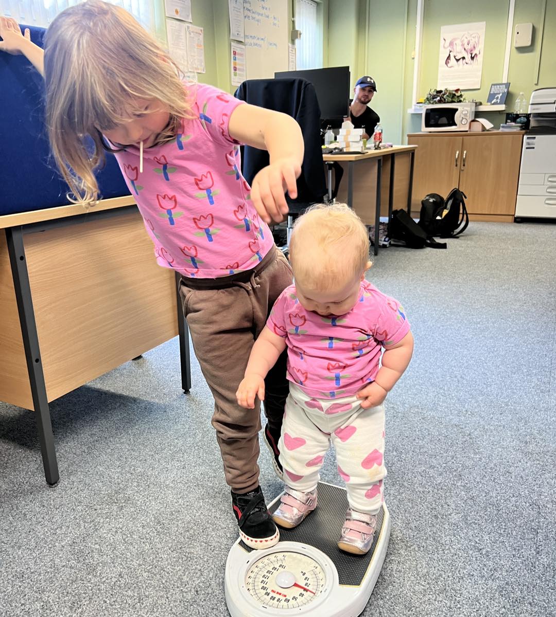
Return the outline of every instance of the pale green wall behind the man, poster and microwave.
{"type": "MultiPolygon", "coordinates": [[[[541,46],[539,28],[543,1],[515,2],[514,24],[532,22],[534,38],[529,48],[512,46],[508,110],[513,110],[513,102],[520,91],[529,99],[536,88],[556,86],[556,0],[546,0],[541,46]],[[536,84],[537,63],[539,80],[536,84]]],[[[437,85],[440,26],[485,21],[481,88],[466,91],[466,97],[486,101],[491,83],[502,81],[508,4],[508,0],[425,0],[419,97],[437,85]]],[[[378,92],[372,106],[381,116],[385,141],[395,143],[405,143],[407,133],[421,128],[421,116],[406,111],[413,103],[414,60],[411,54],[415,48],[416,11],[417,0],[329,0],[326,66],[350,65],[352,81],[367,73],[375,78],[378,92]]],[[[495,126],[504,121],[503,114],[487,112],[484,117],[495,126]]]]}

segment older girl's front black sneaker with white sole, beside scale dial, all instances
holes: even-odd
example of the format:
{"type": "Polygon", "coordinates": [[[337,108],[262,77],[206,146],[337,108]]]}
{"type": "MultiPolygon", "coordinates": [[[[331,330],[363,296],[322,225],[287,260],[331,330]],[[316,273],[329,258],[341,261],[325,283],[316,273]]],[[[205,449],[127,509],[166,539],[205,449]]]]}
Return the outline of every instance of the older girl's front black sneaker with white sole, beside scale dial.
{"type": "Polygon", "coordinates": [[[232,507],[239,527],[240,538],[251,549],[268,549],[280,539],[280,532],[264,503],[261,487],[238,495],[232,491],[232,507]]]}

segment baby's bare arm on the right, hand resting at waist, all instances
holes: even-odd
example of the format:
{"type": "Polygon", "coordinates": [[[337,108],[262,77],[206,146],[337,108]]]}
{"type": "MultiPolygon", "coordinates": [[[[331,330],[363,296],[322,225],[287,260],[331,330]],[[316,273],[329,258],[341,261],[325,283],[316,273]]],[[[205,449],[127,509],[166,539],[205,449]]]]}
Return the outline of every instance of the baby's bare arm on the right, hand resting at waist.
{"type": "Polygon", "coordinates": [[[403,375],[413,355],[413,334],[408,332],[400,342],[385,346],[384,349],[382,366],[373,383],[361,388],[356,394],[358,399],[363,399],[361,407],[364,409],[380,405],[403,375]]]}

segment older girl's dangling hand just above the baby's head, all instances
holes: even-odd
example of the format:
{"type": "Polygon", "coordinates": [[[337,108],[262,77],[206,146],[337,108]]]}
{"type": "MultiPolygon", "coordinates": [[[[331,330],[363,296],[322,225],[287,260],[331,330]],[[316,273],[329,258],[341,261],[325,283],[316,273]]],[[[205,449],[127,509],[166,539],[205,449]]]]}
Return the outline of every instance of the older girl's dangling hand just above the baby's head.
{"type": "Polygon", "coordinates": [[[259,217],[265,223],[271,220],[280,223],[288,213],[288,204],[284,193],[297,197],[296,180],[301,173],[301,165],[293,157],[277,159],[253,178],[251,183],[251,201],[259,217]]]}

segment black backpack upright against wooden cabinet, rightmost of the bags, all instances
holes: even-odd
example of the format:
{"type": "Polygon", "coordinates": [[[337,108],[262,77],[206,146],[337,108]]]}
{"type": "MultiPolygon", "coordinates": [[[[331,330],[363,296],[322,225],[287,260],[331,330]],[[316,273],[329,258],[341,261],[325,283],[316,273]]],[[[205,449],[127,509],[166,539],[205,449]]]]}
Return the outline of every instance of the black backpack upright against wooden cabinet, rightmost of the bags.
{"type": "Polygon", "coordinates": [[[456,238],[469,225],[464,197],[467,199],[460,189],[452,189],[446,199],[438,193],[429,193],[421,201],[419,227],[431,238],[456,238]]]}

